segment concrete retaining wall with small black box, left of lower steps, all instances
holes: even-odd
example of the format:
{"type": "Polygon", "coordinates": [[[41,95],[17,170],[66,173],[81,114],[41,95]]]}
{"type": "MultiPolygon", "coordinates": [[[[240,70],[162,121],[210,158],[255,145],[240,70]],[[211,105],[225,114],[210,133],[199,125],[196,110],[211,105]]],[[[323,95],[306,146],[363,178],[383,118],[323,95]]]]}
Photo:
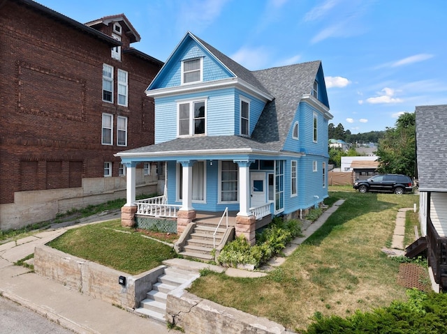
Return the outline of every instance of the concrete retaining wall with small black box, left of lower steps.
{"type": "Polygon", "coordinates": [[[34,271],[38,275],[128,310],[139,307],[164,268],[159,266],[133,276],[45,245],[36,247],[34,252],[34,271]],[[119,284],[120,276],[126,278],[125,285],[119,284]]]}

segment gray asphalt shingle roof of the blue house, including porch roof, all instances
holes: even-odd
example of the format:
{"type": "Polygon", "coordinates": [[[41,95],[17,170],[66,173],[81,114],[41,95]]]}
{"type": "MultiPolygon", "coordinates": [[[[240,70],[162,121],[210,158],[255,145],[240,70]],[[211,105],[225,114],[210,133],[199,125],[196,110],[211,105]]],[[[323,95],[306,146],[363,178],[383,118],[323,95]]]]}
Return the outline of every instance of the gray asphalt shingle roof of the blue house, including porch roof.
{"type": "Polygon", "coordinates": [[[177,138],[161,144],[124,151],[124,153],[150,154],[162,151],[193,151],[194,149],[281,151],[302,95],[312,92],[321,61],[250,71],[219,52],[219,50],[204,40],[194,36],[192,33],[190,34],[237,77],[256,87],[256,89],[268,93],[274,99],[265,105],[251,138],[237,135],[177,138]]]}

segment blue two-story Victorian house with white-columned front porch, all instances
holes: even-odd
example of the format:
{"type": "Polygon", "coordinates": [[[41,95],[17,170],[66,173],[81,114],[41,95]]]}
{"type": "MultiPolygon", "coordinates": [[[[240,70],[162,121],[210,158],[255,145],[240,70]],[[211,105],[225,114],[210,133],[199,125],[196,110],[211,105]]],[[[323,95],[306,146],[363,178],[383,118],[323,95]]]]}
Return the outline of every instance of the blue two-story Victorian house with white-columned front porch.
{"type": "Polygon", "coordinates": [[[173,218],[177,233],[191,233],[199,212],[234,212],[235,234],[254,243],[259,220],[295,218],[328,197],[321,61],[250,71],[188,32],[146,93],[155,144],[117,153],[124,224],[173,218]],[[135,170],[153,162],[166,162],[165,192],[135,201],[135,170]]]}

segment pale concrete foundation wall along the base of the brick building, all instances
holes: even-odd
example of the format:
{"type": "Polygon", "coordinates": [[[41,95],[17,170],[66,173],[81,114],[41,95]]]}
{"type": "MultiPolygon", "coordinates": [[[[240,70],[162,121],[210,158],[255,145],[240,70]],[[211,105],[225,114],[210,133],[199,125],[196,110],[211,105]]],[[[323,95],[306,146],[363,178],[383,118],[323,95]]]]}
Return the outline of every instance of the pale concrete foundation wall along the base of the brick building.
{"type": "MultiPolygon", "coordinates": [[[[136,194],[158,193],[156,175],[137,175],[136,194]]],[[[81,188],[15,192],[14,203],[0,204],[0,230],[21,227],[54,219],[57,213],[126,198],[126,177],[82,179],[81,188]]]]}

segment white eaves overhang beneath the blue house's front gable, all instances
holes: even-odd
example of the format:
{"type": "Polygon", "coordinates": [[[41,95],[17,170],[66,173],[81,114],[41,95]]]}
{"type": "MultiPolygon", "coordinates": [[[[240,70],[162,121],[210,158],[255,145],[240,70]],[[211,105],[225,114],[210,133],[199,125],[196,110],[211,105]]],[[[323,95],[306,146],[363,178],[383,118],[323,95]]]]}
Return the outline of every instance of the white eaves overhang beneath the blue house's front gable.
{"type": "Polygon", "coordinates": [[[149,91],[146,91],[146,95],[152,98],[165,98],[168,96],[176,96],[184,93],[195,93],[198,91],[210,91],[211,89],[225,89],[230,87],[241,89],[242,91],[250,93],[251,95],[264,100],[265,102],[271,101],[274,98],[270,94],[265,93],[265,91],[261,91],[260,89],[257,89],[256,87],[237,77],[209,82],[200,82],[198,84],[184,84],[182,86],[151,89],[149,91]]]}

